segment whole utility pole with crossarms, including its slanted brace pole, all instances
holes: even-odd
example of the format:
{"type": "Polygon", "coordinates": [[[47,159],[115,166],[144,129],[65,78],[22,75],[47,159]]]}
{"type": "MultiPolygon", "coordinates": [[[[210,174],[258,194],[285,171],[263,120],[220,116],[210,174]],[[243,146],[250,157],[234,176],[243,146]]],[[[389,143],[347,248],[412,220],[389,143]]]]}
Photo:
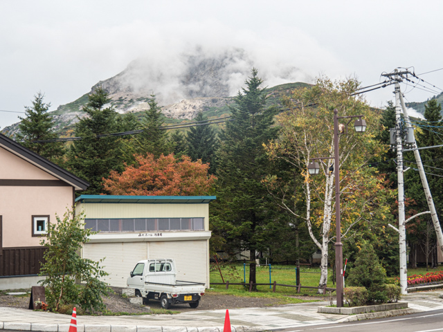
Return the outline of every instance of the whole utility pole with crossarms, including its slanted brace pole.
{"type": "MultiPolygon", "coordinates": [[[[402,75],[413,75],[409,71],[397,71],[395,69],[394,73],[383,74],[383,76],[389,77],[392,79],[394,77],[395,80],[395,142],[397,146],[397,178],[398,178],[398,205],[399,205],[399,246],[400,246],[400,287],[401,293],[407,294],[406,288],[408,287],[407,282],[407,265],[406,265],[406,222],[405,221],[405,209],[404,209],[404,166],[403,166],[403,145],[402,138],[403,132],[401,130],[401,110],[403,111],[404,120],[406,121],[406,126],[408,128],[412,128],[412,124],[410,123],[408,112],[406,111],[406,105],[404,104],[403,95],[401,95],[400,91],[400,82],[402,75]]],[[[411,133],[413,131],[410,131],[411,133]]],[[[417,149],[417,142],[415,138],[413,139],[413,149],[408,149],[408,151],[413,150],[415,161],[417,163],[417,167],[419,169],[419,175],[422,180],[422,185],[424,189],[424,194],[426,196],[426,201],[428,202],[428,212],[422,212],[419,214],[415,214],[408,219],[408,221],[412,220],[416,216],[425,213],[431,213],[431,218],[435,228],[435,234],[437,234],[437,241],[440,247],[440,250],[443,252],[443,233],[442,228],[440,227],[440,222],[438,221],[437,212],[435,211],[434,201],[432,199],[431,190],[429,190],[428,180],[426,178],[426,174],[424,173],[424,168],[422,164],[422,158],[420,157],[419,150],[417,149]]],[[[392,225],[390,225],[392,227],[392,225]]],[[[394,228],[394,227],[392,227],[394,228]]],[[[395,228],[394,228],[395,229],[395,228]]]]}

